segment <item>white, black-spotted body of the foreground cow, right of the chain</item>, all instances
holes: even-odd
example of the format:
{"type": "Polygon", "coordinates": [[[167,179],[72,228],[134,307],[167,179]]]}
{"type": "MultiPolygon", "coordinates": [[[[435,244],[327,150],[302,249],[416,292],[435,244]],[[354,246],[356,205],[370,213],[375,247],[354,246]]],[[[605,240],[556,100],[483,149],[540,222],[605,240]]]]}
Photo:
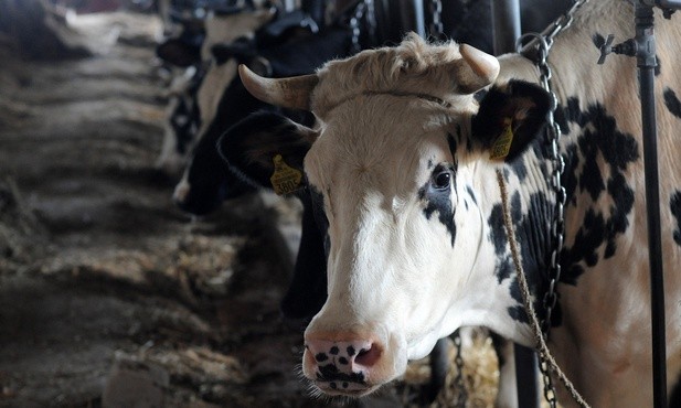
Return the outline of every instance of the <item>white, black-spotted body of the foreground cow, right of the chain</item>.
{"type": "MultiPolygon", "coordinates": [[[[597,66],[593,36],[634,36],[632,7],[593,2],[588,17],[556,40],[550,61],[554,86],[568,122],[562,151],[566,241],[560,287],[563,322],[552,332],[556,358],[595,407],[651,406],[649,255],[647,250],[642,131],[635,58],[610,56],[597,66]],[[609,18],[604,18],[609,15],[609,18]],[[565,44],[565,45],[564,45],[565,44]],[[585,44],[575,52],[566,44],[585,44]]],[[[619,2],[624,3],[624,2],[619,2]]],[[[584,14],[584,13],[583,13],[584,14]]],[[[678,18],[656,13],[656,76],[660,210],[666,279],[668,384],[681,374],[681,116],[675,93],[681,78],[678,18]]],[[[535,80],[534,68],[518,56],[501,61],[503,77],[535,80]]],[[[529,158],[528,158],[529,159],[529,158]]],[[[525,159],[525,161],[528,160],[525,159]]],[[[523,191],[524,189],[519,189],[523,191]]],[[[670,388],[671,389],[671,388],[670,388]]]]}

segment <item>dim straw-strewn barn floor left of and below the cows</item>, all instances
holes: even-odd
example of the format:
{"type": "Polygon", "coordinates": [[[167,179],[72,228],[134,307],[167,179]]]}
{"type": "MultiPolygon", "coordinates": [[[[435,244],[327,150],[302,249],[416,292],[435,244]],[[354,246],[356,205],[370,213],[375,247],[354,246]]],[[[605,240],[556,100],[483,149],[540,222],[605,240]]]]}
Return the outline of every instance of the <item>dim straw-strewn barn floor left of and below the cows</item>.
{"type": "MultiPolygon", "coordinates": [[[[278,312],[295,203],[243,197],[202,219],[173,206],[177,176],[153,165],[166,99],[148,19],[82,20],[98,51],[83,60],[0,43],[0,407],[413,406],[423,364],[361,402],[308,396],[302,326],[278,312]]],[[[479,343],[472,407],[497,375],[479,343]]]]}

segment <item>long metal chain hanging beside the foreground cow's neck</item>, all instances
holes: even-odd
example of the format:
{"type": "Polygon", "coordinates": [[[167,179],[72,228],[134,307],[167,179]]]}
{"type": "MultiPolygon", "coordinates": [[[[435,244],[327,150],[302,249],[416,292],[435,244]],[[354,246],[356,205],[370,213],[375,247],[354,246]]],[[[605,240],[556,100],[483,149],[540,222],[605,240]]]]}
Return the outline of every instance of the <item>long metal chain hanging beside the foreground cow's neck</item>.
{"type": "MultiPolygon", "coordinates": [[[[565,239],[565,203],[567,195],[565,187],[562,185],[561,179],[565,170],[565,160],[561,155],[560,151],[560,138],[561,127],[555,121],[555,110],[558,106],[558,98],[553,90],[552,84],[552,71],[549,65],[549,52],[553,46],[555,36],[565,31],[572,25],[574,14],[588,0],[575,0],[572,7],[565,12],[565,14],[557,18],[552,24],[550,24],[541,34],[530,33],[521,36],[517,42],[517,49],[523,55],[532,55],[534,62],[540,72],[540,84],[551,95],[551,109],[547,115],[549,129],[546,131],[546,144],[549,147],[551,161],[553,163],[553,170],[551,174],[551,186],[555,192],[555,216],[551,225],[551,236],[553,243],[553,250],[551,254],[551,265],[549,267],[549,288],[543,298],[543,307],[545,311],[544,320],[542,321],[542,334],[545,340],[549,340],[551,332],[551,319],[553,310],[558,300],[557,283],[561,280],[561,249],[563,248],[563,241],[565,239]],[[523,40],[532,39],[528,45],[522,46],[523,40]]],[[[544,398],[549,402],[551,408],[555,408],[556,391],[551,378],[549,364],[542,356],[540,363],[540,372],[544,379],[544,398]]]]}

